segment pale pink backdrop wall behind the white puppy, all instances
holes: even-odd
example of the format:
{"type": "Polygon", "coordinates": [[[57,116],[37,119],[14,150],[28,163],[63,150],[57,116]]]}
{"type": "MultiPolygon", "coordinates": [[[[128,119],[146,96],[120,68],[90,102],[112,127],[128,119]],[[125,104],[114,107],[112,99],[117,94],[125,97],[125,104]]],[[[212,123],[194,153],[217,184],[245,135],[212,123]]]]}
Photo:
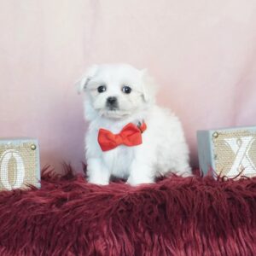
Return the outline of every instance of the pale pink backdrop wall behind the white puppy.
{"type": "Polygon", "coordinates": [[[256,2],[0,2],[0,137],[38,137],[42,166],[84,160],[82,97],[92,63],[148,67],[160,104],[195,131],[256,124],[256,2]]]}

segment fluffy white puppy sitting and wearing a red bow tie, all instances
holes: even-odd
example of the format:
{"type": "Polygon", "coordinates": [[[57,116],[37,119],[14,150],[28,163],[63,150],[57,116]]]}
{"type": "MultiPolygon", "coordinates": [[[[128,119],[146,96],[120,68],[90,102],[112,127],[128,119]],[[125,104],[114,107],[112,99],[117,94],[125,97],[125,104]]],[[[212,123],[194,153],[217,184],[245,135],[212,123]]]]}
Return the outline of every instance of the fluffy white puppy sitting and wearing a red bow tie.
{"type": "Polygon", "coordinates": [[[85,137],[90,183],[105,185],[114,176],[137,185],[170,172],[191,175],[182,125],[155,104],[155,86],[145,70],[95,65],[79,82],[79,91],[85,91],[90,124],[85,137]]]}

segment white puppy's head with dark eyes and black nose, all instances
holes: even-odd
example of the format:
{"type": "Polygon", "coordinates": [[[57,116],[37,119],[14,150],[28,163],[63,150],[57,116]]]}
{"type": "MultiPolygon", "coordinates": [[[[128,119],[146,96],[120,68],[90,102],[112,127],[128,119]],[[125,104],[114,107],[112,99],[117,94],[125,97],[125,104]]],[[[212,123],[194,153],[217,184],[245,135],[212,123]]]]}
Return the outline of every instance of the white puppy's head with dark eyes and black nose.
{"type": "Polygon", "coordinates": [[[90,67],[79,82],[90,107],[105,118],[121,119],[154,103],[155,88],[146,70],[127,64],[90,67]]]}

